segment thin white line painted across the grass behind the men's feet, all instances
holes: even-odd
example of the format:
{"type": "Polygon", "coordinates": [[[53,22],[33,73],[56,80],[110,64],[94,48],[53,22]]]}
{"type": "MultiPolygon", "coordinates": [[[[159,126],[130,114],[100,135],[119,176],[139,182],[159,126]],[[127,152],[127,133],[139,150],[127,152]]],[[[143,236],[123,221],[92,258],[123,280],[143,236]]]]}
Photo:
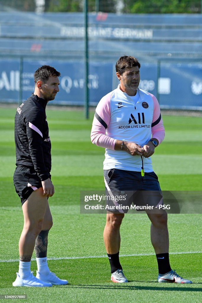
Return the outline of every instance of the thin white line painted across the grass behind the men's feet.
{"type": "MultiPolygon", "coordinates": [[[[202,251],[183,251],[183,252],[170,252],[170,255],[183,255],[183,254],[201,254],[202,251]]],[[[148,254],[131,254],[131,255],[119,255],[119,257],[141,257],[141,256],[153,256],[154,253],[148,253],[148,254]]],[[[55,258],[50,257],[48,260],[75,260],[75,259],[91,259],[91,258],[107,258],[107,255],[102,256],[86,256],[86,257],[61,257],[61,258],[55,258]]],[[[35,261],[35,258],[31,259],[32,261],[35,261]]],[[[5,262],[18,262],[19,259],[11,259],[11,260],[0,260],[0,263],[5,262]]]]}

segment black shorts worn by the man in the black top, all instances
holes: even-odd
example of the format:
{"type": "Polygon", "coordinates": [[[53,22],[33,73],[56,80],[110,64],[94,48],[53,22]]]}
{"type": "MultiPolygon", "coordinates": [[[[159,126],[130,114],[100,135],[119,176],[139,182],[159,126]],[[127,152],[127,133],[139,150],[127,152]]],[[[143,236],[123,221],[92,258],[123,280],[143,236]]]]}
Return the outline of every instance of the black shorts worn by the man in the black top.
{"type": "MultiPolygon", "coordinates": [[[[49,178],[51,178],[51,175],[49,178]]],[[[13,183],[22,205],[33,191],[42,187],[41,179],[38,177],[37,172],[33,168],[25,166],[17,166],[15,168],[13,183]]]]}

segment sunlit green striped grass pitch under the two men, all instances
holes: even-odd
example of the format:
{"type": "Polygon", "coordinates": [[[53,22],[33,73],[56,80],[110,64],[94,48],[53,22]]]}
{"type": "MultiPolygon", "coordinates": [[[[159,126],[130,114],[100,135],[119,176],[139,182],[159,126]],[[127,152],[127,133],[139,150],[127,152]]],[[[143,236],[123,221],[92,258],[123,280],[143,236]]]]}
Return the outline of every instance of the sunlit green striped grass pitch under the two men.
{"type": "MultiPolygon", "coordinates": [[[[80,214],[80,191],[104,189],[104,149],[90,141],[94,113],[87,121],[81,111],[50,108],[47,120],[55,195],[49,199],[54,225],[49,232],[48,264],[51,271],[68,279],[69,284],[48,289],[12,287],[18,271],[15,260],[23,225],[20,199],[12,183],[15,110],[1,108],[0,113],[0,295],[26,294],[27,300],[22,301],[45,303],[201,302],[201,253],[196,253],[202,251],[201,214],[168,215],[171,266],[193,284],[157,283],[157,262],[145,214],[128,214],[121,226],[120,255],[137,254],[121,257],[129,283],[110,281],[108,258],[103,257],[105,215],[80,214]]],[[[161,189],[201,190],[202,119],[162,116],[166,137],[152,156],[161,189]]],[[[36,262],[32,261],[34,274],[36,268],[36,262]]],[[[6,300],[11,301],[14,300],[6,300]]]]}

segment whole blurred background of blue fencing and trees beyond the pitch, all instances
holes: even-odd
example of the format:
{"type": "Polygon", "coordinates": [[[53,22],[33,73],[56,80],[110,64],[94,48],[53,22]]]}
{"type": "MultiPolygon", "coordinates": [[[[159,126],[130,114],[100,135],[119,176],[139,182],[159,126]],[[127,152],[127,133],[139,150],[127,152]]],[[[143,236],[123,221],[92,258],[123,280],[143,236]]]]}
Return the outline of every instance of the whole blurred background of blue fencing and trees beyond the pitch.
{"type": "MultiPolygon", "coordinates": [[[[115,63],[141,63],[161,108],[202,110],[202,1],[88,1],[89,104],[117,87],[115,63]]],[[[0,0],[0,102],[22,103],[42,64],[61,72],[52,104],[83,105],[84,3],[0,0]]]]}

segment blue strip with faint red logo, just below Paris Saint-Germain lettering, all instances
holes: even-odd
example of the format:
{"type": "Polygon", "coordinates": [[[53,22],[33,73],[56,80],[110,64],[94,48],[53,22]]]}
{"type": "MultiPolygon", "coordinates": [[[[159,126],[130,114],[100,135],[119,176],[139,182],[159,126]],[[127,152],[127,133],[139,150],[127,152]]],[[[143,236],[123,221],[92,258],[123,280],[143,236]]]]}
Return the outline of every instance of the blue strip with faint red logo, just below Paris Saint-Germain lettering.
{"type": "MultiPolygon", "coordinates": [[[[202,50],[202,43],[200,42],[132,42],[132,41],[117,41],[111,40],[90,40],[89,41],[89,52],[90,55],[98,54],[105,55],[107,58],[107,53],[110,55],[119,54],[124,55],[133,54],[134,56],[138,53],[143,55],[148,53],[158,53],[160,54],[183,54],[187,53],[190,56],[193,54],[200,54],[202,50]]],[[[67,52],[73,54],[80,54],[80,57],[84,55],[84,41],[80,39],[76,40],[60,40],[53,42],[52,40],[40,40],[40,39],[7,39],[0,38],[0,51],[17,54],[60,54],[67,55],[67,52]],[[74,53],[72,53],[74,52],[74,53]]]]}

